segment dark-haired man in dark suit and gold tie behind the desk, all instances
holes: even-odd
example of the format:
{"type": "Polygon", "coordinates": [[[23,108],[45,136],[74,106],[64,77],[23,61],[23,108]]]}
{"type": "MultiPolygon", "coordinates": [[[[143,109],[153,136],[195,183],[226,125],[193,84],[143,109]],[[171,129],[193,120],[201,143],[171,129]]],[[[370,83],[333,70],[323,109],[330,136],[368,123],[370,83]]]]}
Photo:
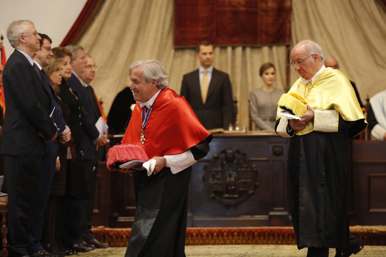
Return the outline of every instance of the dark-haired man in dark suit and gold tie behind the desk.
{"type": "Polygon", "coordinates": [[[208,41],[198,44],[196,57],[200,67],[183,76],[181,96],[185,96],[206,129],[228,129],[234,122],[229,76],[213,67],[213,45],[208,41]]]}

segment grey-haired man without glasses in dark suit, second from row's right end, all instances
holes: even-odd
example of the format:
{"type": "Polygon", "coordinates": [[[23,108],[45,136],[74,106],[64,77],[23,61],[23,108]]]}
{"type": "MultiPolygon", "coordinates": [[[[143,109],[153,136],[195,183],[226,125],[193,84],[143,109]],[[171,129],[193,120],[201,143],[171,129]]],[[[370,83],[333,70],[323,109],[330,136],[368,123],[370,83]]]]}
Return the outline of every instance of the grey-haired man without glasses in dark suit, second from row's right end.
{"type": "MultiPolygon", "coordinates": [[[[89,97],[89,93],[86,89],[85,82],[81,79],[81,75],[85,72],[87,59],[85,55],[85,51],[83,47],[80,45],[68,45],[66,46],[66,49],[68,49],[71,54],[71,61],[72,61],[72,75],[67,80],[69,87],[76,93],[78,98],[83,104],[83,116],[82,116],[82,128],[84,133],[84,139],[83,139],[83,165],[84,165],[84,171],[86,176],[86,186],[88,189],[88,195],[85,195],[85,200],[76,201],[75,208],[78,208],[78,211],[76,213],[79,214],[78,224],[73,224],[73,228],[75,229],[75,226],[77,226],[76,234],[78,234],[78,237],[80,237],[80,220],[83,220],[86,215],[87,210],[87,202],[90,198],[91,193],[91,183],[92,183],[92,176],[94,172],[94,160],[95,155],[97,153],[97,148],[99,146],[103,146],[106,144],[107,138],[104,134],[100,133],[95,126],[95,123],[97,123],[100,113],[98,113],[95,108],[93,107],[93,103],[89,97]]],[[[74,219],[76,220],[76,219],[74,219]]],[[[74,234],[74,231],[73,231],[74,234]]],[[[82,252],[84,249],[82,248],[81,241],[78,239],[72,239],[73,242],[73,249],[82,252]]],[[[67,244],[69,243],[68,239],[64,240],[67,244]]],[[[91,246],[88,245],[87,246],[91,246]]],[[[93,246],[91,246],[93,247],[93,246]]],[[[88,247],[86,247],[88,248],[88,247]]]]}

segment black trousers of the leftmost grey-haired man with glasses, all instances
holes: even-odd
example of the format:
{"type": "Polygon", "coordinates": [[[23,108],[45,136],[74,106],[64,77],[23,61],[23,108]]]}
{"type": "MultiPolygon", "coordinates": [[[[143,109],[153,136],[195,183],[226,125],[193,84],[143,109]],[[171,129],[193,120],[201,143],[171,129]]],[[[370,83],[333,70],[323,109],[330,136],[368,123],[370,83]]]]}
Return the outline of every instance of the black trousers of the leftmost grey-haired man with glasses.
{"type": "MultiPolygon", "coordinates": [[[[34,254],[30,241],[31,217],[41,174],[42,156],[4,155],[8,183],[9,256],[34,254]]],[[[43,210],[44,212],[44,210],[43,210]]]]}

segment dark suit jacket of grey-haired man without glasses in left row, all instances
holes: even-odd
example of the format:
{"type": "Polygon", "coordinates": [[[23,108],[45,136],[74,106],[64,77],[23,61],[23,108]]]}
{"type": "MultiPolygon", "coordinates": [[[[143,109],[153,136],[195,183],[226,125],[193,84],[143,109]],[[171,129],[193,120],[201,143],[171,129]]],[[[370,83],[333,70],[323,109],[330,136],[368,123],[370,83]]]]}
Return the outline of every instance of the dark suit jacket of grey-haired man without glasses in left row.
{"type": "Polygon", "coordinates": [[[96,154],[95,139],[99,136],[99,131],[95,127],[95,123],[98,121],[98,113],[93,107],[93,103],[88,97],[85,87],[82,86],[79,79],[72,74],[67,80],[69,87],[76,93],[80,101],[83,103],[83,116],[82,116],[82,128],[84,133],[83,138],[83,152],[85,154],[84,159],[94,160],[96,154]]]}

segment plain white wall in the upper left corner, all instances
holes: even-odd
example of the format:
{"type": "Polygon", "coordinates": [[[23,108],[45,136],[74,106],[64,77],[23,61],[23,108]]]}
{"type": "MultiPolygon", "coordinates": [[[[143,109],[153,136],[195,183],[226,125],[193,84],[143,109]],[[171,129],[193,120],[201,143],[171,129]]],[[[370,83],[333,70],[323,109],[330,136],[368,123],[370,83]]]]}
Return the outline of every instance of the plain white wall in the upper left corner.
{"type": "Polygon", "coordinates": [[[4,30],[7,58],[14,49],[7,39],[8,25],[14,20],[31,20],[37,32],[52,39],[58,46],[71,29],[87,0],[0,0],[0,31],[4,30]]]}

